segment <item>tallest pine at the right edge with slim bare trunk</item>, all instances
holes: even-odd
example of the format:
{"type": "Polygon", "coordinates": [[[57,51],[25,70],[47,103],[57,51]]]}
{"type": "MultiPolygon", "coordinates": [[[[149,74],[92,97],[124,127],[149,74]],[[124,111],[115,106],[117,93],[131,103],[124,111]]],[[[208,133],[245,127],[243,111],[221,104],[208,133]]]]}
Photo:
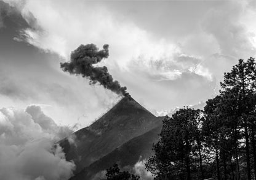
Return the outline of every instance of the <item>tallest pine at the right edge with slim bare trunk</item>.
{"type": "MultiPolygon", "coordinates": [[[[254,124],[255,118],[250,118],[255,112],[256,102],[254,100],[256,92],[256,64],[254,58],[249,58],[247,62],[243,59],[239,59],[238,64],[233,66],[231,72],[224,73],[224,80],[221,83],[221,94],[231,94],[229,100],[236,105],[236,108],[231,112],[233,122],[237,123],[237,126],[242,127],[244,138],[246,140],[246,164],[247,164],[247,179],[251,179],[250,175],[250,133],[254,136],[254,124]],[[250,122],[250,121],[253,122],[250,122]]],[[[228,107],[226,107],[228,108],[228,107]]],[[[252,139],[251,139],[252,141],[252,139]]],[[[254,147],[255,148],[255,147],[254,147]]],[[[255,159],[256,159],[256,154],[255,159]]],[[[256,168],[256,166],[255,166],[256,168]]],[[[256,170],[256,169],[255,169],[256,170]]]]}

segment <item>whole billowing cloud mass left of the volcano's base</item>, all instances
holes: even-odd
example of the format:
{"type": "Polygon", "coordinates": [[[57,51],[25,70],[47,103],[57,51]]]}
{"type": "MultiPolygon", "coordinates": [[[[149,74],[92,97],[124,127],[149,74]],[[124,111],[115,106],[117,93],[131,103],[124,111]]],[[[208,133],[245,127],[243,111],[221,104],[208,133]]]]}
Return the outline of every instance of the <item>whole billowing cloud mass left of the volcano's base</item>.
{"type": "Polygon", "coordinates": [[[0,110],[0,179],[69,179],[75,168],[54,143],[72,132],[31,106],[0,110]]]}

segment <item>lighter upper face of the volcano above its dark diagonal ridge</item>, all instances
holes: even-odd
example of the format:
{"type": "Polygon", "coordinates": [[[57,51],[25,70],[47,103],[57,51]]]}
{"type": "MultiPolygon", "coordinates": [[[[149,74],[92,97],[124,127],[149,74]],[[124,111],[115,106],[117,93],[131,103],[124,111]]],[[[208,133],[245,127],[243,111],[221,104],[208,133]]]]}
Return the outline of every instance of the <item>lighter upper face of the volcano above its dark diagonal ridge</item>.
{"type": "Polygon", "coordinates": [[[73,160],[76,164],[76,174],[132,138],[159,127],[161,123],[161,119],[156,118],[134,99],[124,97],[92,125],[60,141],[60,146],[66,159],[73,160]]]}

